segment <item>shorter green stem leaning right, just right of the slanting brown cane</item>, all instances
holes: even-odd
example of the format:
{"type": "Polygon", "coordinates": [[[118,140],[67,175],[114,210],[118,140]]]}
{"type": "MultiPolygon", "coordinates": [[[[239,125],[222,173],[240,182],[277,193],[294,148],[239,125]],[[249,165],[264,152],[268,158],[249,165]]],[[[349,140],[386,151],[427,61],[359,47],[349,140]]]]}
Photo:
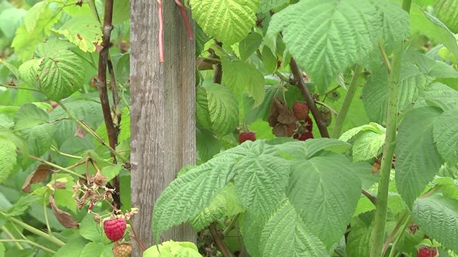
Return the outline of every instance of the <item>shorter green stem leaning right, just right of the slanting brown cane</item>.
{"type": "Polygon", "coordinates": [[[357,80],[359,78],[359,75],[361,75],[362,71],[364,71],[363,67],[356,64],[355,72],[353,73],[353,78],[351,79],[350,85],[348,86],[347,94],[345,95],[345,98],[343,99],[343,103],[340,107],[339,114],[337,115],[334,129],[332,130],[332,133],[331,133],[332,139],[337,139],[340,136],[340,132],[343,126],[343,121],[345,121],[345,117],[347,116],[351,101],[353,100],[353,96],[355,96],[356,89],[358,87],[357,80]]]}

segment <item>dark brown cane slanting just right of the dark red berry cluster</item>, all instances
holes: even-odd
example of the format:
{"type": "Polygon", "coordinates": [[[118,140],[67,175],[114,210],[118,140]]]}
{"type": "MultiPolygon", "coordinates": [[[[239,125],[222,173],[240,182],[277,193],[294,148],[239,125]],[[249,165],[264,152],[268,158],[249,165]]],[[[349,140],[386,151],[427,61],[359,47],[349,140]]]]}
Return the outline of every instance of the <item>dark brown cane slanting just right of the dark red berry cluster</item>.
{"type": "Polygon", "coordinates": [[[298,64],[296,64],[296,61],[293,58],[291,58],[291,61],[289,62],[289,67],[291,68],[291,72],[294,75],[296,85],[302,92],[305,98],[305,102],[307,103],[307,106],[310,109],[310,112],[312,112],[312,115],[316,122],[316,126],[318,126],[318,129],[320,130],[321,137],[329,137],[328,127],[326,127],[326,124],[323,121],[323,116],[321,116],[320,110],[316,107],[315,100],[313,99],[312,94],[310,94],[309,89],[305,85],[302,72],[300,72],[298,64]]]}

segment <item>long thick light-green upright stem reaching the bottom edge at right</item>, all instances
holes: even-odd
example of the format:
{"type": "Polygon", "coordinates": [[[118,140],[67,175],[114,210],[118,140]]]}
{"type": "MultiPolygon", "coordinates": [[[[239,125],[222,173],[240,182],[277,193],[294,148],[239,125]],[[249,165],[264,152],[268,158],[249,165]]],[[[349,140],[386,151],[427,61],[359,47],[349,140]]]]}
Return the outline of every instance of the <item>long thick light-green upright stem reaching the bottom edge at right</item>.
{"type": "Polygon", "coordinates": [[[396,125],[398,121],[398,82],[400,76],[400,60],[402,44],[393,51],[393,65],[389,74],[387,134],[383,146],[383,157],[378,182],[377,204],[375,205],[375,223],[371,235],[371,257],[380,257],[387,222],[389,175],[396,147],[396,125]]]}

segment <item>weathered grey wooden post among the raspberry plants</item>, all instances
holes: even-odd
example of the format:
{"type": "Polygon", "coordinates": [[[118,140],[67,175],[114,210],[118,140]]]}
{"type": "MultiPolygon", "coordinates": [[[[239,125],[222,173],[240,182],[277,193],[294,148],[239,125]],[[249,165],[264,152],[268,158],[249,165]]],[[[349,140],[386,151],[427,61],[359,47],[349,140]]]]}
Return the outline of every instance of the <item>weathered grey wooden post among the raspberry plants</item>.
{"type": "MultiPolygon", "coordinates": [[[[178,170],[196,158],[195,45],[176,3],[162,4],[164,63],[159,61],[158,3],[130,1],[130,188],[131,204],[139,208],[133,225],[145,247],[153,245],[155,200],[178,170]]],[[[196,233],[185,224],[164,233],[160,241],[169,239],[194,242],[196,233]]],[[[137,250],[133,256],[141,255],[137,250]]]]}

